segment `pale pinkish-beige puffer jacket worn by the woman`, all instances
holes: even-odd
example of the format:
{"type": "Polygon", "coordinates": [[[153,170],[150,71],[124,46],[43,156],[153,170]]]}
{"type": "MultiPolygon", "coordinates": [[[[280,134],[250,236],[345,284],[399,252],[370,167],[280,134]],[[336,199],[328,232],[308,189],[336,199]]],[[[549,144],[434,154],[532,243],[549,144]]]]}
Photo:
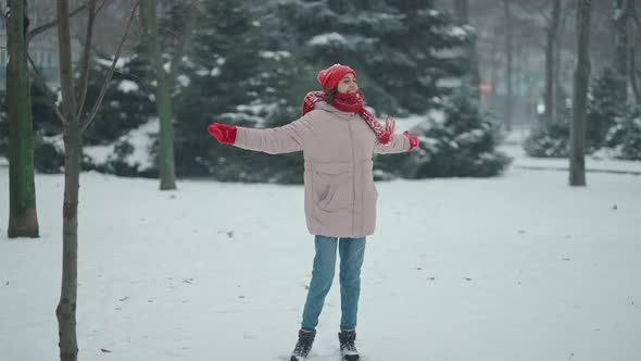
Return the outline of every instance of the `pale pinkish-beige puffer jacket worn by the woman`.
{"type": "Polygon", "coordinates": [[[313,235],[364,237],[374,233],[378,194],[373,153],[407,151],[410,139],[395,134],[387,145],[357,113],[326,102],[281,127],[238,127],[234,146],[271,154],[303,151],[305,217],[313,235]]]}

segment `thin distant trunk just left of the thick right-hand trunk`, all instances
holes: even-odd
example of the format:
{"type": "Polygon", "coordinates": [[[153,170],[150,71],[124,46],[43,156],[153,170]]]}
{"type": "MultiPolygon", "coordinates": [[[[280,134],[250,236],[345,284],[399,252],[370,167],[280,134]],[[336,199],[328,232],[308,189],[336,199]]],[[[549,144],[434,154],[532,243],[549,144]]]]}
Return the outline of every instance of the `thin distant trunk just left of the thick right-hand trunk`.
{"type": "Polygon", "coordinates": [[[554,89],[555,74],[558,70],[555,70],[555,50],[557,49],[558,42],[558,21],[561,17],[561,0],[554,0],[552,4],[552,20],[548,27],[548,41],[545,43],[545,121],[552,122],[555,120],[555,104],[556,94],[554,89]]]}

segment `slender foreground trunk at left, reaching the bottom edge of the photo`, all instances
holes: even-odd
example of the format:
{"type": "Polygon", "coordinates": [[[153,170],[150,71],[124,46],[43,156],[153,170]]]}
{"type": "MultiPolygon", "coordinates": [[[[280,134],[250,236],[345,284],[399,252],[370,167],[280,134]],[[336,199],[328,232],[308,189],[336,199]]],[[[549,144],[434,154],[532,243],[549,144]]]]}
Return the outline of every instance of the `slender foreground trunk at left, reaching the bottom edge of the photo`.
{"type": "Polygon", "coordinates": [[[68,0],[58,0],[58,45],[62,113],[64,115],[64,203],[62,207],[62,286],[55,309],[60,360],[78,358],[76,299],[78,286],[78,188],[80,177],[80,122],[74,90],[68,0]]]}

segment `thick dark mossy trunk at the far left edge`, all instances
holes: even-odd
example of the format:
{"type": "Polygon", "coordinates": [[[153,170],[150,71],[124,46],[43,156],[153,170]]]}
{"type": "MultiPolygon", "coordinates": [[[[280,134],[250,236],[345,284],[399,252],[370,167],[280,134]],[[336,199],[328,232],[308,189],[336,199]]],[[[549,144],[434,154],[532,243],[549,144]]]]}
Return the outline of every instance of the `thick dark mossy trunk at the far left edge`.
{"type": "Polygon", "coordinates": [[[39,237],[34,182],[32,92],[27,63],[26,1],[9,0],[7,22],[7,108],[9,110],[8,236],[39,237]]]}

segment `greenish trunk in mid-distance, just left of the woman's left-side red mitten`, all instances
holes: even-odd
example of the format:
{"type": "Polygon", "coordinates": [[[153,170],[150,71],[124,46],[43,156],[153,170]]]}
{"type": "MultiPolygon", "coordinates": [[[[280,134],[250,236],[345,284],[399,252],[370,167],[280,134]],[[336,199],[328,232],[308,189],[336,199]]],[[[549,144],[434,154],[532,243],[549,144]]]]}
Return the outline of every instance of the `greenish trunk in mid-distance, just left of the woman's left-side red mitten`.
{"type": "MultiPolygon", "coordinates": [[[[159,172],[160,189],[176,189],[176,174],[174,163],[174,125],[172,111],[172,97],[167,72],[162,61],[162,49],[156,24],[155,0],[142,0],[140,2],[140,24],[147,43],[147,54],[154,65],[156,75],[155,104],[160,120],[160,152],[159,172]]],[[[174,59],[174,61],[180,61],[174,59]]]]}

